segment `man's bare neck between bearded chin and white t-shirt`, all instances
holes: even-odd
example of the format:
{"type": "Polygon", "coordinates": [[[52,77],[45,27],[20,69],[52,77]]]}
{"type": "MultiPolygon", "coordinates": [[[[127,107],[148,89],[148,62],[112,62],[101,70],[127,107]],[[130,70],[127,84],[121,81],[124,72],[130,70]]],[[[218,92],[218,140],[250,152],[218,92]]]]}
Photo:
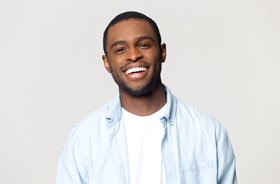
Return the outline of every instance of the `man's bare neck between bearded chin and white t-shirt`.
{"type": "Polygon", "coordinates": [[[160,83],[150,94],[140,97],[131,96],[120,90],[120,99],[122,107],[128,112],[138,116],[147,116],[165,105],[166,94],[163,84],[160,83]]]}

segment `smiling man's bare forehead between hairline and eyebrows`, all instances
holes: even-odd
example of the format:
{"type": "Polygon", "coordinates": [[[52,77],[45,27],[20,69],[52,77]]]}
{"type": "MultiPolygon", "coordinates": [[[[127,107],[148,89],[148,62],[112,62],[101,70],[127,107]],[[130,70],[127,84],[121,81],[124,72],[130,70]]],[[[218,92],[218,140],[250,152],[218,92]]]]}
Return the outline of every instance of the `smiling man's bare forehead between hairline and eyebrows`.
{"type": "Polygon", "coordinates": [[[156,41],[156,35],[151,24],[146,20],[122,20],[108,30],[108,44],[124,40],[129,41],[141,36],[150,36],[156,41]]]}

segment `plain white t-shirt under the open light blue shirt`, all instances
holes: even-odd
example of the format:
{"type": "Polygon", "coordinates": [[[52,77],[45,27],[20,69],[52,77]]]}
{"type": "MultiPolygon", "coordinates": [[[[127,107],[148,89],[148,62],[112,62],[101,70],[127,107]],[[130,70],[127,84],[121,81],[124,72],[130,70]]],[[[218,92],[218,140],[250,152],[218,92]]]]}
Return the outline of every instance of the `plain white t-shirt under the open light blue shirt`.
{"type": "Polygon", "coordinates": [[[166,105],[149,116],[137,116],[122,109],[127,137],[130,184],[164,184],[161,156],[164,135],[160,118],[166,105]]]}

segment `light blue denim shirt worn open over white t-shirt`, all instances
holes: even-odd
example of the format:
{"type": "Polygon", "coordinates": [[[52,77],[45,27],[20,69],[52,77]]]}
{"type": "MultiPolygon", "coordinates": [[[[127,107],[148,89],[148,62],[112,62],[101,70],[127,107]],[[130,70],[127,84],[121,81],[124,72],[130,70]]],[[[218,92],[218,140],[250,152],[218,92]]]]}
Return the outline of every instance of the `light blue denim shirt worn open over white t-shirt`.
{"type": "MultiPolygon", "coordinates": [[[[236,184],[224,127],[167,91],[162,158],[167,184],[236,184]]],[[[129,184],[119,96],[73,128],[60,156],[57,184],[129,184]]],[[[151,163],[152,164],[152,163],[151,163]]]]}

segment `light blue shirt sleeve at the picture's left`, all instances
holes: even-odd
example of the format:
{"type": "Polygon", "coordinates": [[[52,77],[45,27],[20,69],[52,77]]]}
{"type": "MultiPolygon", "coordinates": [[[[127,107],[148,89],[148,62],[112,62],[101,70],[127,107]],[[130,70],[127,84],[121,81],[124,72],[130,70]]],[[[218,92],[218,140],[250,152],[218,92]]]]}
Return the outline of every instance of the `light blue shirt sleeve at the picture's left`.
{"type": "Polygon", "coordinates": [[[77,128],[74,128],[59,158],[56,184],[87,184],[81,149],[77,142],[77,128]]]}

